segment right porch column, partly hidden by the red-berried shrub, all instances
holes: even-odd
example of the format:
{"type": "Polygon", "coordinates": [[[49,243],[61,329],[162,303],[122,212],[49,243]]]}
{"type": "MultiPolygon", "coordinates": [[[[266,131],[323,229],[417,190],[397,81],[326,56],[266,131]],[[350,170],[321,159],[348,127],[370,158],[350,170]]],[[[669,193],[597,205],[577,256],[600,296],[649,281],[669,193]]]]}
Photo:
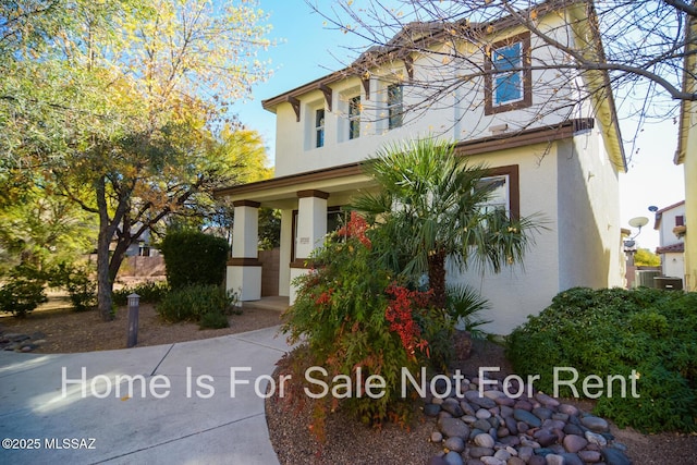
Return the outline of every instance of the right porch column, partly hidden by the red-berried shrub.
{"type": "Polygon", "coordinates": [[[297,238],[295,241],[295,260],[291,264],[291,292],[289,302],[295,302],[296,287],[292,281],[308,272],[305,261],[311,252],[320,247],[327,234],[327,199],[329,194],[322,191],[297,192],[297,238]]]}

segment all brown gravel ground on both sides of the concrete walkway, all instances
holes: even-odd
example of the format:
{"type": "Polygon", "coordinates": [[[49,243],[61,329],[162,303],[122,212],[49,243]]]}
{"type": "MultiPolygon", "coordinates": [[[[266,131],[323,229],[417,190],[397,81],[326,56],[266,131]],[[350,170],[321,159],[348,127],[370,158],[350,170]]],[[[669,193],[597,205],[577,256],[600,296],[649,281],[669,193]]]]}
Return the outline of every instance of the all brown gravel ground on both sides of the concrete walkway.
{"type": "MultiPolygon", "coordinates": [[[[76,314],[69,309],[36,310],[25,319],[0,317],[0,331],[45,334],[45,341],[34,352],[74,353],[124,348],[126,342],[126,308],[117,313],[114,321],[103,322],[96,311],[76,314]]],[[[199,330],[195,323],[166,323],[151,305],[140,306],[138,346],[216,338],[252,331],[280,323],[279,313],[249,309],[230,317],[230,328],[199,330]]],[[[475,342],[470,357],[460,367],[463,375],[474,377],[479,367],[501,367],[500,379],[512,368],[499,345],[475,342]]],[[[574,402],[590,411],[589,402],[574,402]]],[[[418,406],[415,406],[418,408],[418,406]]],[[[347,418],[341,412],[327,421],[327,441],[321,444],[308,429],[311,404],[297,411],[271,397],[267,401],[267,420],[271,442],[281,464],[425,464],[439,448],[428,438],[435,428],[431,419],[415,415],[409,428],[386,425],[370,429],[347,418]]],[[[641,435],[632,429],[611,426],[617,441],[628,446],[627,454],[636,465],[697,464],[697,436],[661,433],[641,435]]]]}

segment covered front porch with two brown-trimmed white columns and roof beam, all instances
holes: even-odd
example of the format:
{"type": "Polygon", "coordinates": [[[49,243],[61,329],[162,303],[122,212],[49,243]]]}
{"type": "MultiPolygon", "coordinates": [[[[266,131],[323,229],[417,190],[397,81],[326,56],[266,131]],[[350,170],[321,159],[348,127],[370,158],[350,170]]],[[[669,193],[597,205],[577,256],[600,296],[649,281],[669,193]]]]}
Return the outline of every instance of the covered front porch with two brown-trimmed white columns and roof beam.
{"type": "Polygon", "coordinates": [[[260,207],[279,209],[278,293],[288,299],[283,302],[286,307],[293,305],[295,290],[291,282],[307,272],[307,258],[322,244],[328,228],[333,229],[333,218],[341,207],[348,205],[356,193],[371,186],[359,163],[352,163],[216,191],[216,197],[225,197],[234,206],[227,289],[236,292],[244,303],[261,301],[258,211],[260,207]]]}

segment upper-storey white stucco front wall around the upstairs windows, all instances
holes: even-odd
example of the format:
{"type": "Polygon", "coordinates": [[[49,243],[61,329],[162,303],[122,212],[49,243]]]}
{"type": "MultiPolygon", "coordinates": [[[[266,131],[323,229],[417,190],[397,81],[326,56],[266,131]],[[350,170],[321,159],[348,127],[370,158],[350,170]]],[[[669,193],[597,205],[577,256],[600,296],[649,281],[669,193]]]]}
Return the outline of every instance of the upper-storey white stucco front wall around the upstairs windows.
{"type": "MultiPolygon", "coordinates": [[[[563,21],[557,15],[546,19],[547,29],[559,40],[568,42],[570,34],[563,26],[563,21]]],[[[545,26],[541,26],[545,28],[545,26]]],[[[524,29],[511,29],[494,36],[492,41],[524,33],[524,29]]],[[[559,51],[543,47],[541,41],[533,37],[531,53],[534,64],[549,63],[559,58],[552,53],[559,51]]],[[[403,83],[404,108],[416,105],[428,98],[433,88],[424,88],[427,83],[438,81],[452,83],[458,76],[466,74],[465,66],[472,68],[473,62],[484,65],[485,54],[481,45],[461,44],[458,51],[467,57],[467,62],[454,59],[443,62],[443,49],[438,50],[437,58],[423,54],[414,57],[414,83],[409,85],[403,62],[383,64],[374,70],[369,78],[369,94],[366,94],[359,77],[347,77],[331,83],[332,109],[326,102],[320,90],[313,90],[299,96],[299,121],[289,102],[279,103],[277,113],[277,160],[274,175],[284,176],[346,164],[375,156],[376,151],[387,144],[415,138],[419,136],[437,135],[451,140],[465,140],[491,136],[491,126],[506,124],[509,133],[521,130],[552,125],[570,118],[573,102],[578,99],[577,85],[574,78],[561,76],[550,70],[533,71],[533,106],[519,110],[505,111],[497,114],[485,114],[484,77],[473,78],[460,85],[450,94],[439,95],[424,111],[406,112],[401,127],[389,130],[387,112],[387,87],[392,83],[403,83]],[[347,137],[348,99],[360,96],[360,136],[354,139],[347,137]],[[552,111],[554,107],[566,110],[552,111]],[[325,145],[315,147],[315,111],[325,109],[325,145]]]]}

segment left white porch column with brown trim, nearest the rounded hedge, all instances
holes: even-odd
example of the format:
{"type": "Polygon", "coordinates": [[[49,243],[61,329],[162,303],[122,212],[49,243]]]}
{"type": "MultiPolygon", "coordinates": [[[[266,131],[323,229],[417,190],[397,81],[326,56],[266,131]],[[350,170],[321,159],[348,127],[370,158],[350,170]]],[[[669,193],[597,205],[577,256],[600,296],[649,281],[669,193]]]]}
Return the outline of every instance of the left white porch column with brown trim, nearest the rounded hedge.
{"type": "Polygon", "coordinates": [[[232,227],[232,258],[228,261],[225,289],[236,292],[240,301],[261,298],[259,248],[259,203],[236,200],[232,227]]]}

